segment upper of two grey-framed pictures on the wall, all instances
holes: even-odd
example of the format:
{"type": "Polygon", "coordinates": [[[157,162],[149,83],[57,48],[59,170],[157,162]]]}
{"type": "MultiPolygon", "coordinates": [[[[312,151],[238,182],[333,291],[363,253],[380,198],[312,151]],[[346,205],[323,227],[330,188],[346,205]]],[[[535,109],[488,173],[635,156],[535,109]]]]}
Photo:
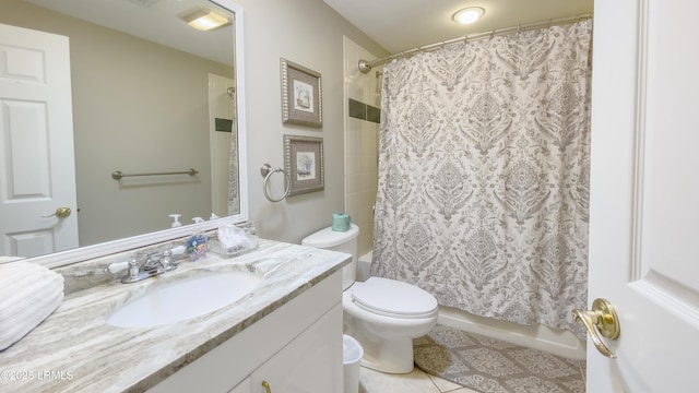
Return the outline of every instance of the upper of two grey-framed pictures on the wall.
{"type": "Polygon", "coordinates": [[[323,126],[320,74],[281,59],[282,122],[320,128],[323,126]]]}

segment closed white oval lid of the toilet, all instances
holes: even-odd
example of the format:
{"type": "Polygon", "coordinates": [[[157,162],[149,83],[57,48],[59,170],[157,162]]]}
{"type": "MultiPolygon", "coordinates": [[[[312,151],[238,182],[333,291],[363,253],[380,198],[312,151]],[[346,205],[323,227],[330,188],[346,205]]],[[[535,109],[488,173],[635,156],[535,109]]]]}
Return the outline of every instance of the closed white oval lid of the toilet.
{"type": "Polygon", "coordinates": [[[437,309],[429,293],[395,279],[369,277],[355,288],[352,298],[367,311],[395,318],[425,318],[437,309]]]}

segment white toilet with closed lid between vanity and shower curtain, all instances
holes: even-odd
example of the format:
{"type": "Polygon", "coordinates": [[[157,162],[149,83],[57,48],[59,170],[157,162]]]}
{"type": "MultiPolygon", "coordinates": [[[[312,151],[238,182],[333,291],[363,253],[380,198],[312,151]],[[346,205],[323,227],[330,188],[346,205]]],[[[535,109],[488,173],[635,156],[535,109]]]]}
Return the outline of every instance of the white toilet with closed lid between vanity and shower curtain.
{"type": "Polygon", "coordinates": [[[352,254],[343,269],[344,333],[364,348],[362,365],[381,372],[413,371],[413,338],[427,334],[437,324],[437,299],[429,293],[394,279],[369,277],[355,282],[357,236],[348,231],[321,229],[301,245],[352,254]]]}

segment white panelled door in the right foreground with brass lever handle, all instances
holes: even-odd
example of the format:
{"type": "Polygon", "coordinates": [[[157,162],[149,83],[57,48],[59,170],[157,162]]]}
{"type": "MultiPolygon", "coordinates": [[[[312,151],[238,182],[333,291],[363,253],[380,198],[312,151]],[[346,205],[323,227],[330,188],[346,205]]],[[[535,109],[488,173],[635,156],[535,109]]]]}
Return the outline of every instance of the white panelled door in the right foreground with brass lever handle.
{"type": "Polygon", "coordinates": [[[588,343],[588,392],[697,392],[699,3],[594,4],[589,299],[620,320],[588,343]]]}

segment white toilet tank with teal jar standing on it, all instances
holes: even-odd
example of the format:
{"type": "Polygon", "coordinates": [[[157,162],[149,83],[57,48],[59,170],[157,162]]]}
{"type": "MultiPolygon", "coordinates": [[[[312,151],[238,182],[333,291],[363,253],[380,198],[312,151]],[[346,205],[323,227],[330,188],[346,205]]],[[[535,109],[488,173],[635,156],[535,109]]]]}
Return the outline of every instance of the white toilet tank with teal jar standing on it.
{"type": "Polygon", "coordinates": [[[351,224],[350,230],[334,231],[331,227],[320,229],[301,239],[301,246],[315,247],[331,251],[345,252],[352,255],[352,262],[342,270],[342,289],[347,289],[357,274],[357,237],[359,227],[351,224]]]}

